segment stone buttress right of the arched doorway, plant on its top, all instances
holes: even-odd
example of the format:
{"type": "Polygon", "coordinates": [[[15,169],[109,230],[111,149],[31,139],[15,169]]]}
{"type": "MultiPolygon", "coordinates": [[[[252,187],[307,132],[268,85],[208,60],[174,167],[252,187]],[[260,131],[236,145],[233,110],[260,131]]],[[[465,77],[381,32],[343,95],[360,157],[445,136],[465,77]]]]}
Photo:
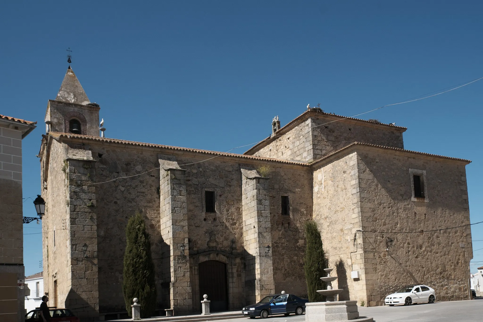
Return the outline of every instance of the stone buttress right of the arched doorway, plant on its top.
{"type": "Polygon", "coordinates": [[[241,168],[245,295],[256,303],[275,292],[271,252],[269,179],[256,170],[241,168]]]}

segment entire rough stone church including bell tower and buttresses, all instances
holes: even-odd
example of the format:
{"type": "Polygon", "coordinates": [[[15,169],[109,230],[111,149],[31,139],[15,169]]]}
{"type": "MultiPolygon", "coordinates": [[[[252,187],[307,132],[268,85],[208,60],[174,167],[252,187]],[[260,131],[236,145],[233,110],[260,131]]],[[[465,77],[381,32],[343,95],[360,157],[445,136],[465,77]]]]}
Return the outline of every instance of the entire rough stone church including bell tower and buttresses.
{"type": "Polygon", "coordinates": [[[39,156],[50,305],[84,320],[126,310],[125,228],[136,211],[158,308],[175,314],[199,311],[203,294],[214,310],[306,296],[312,219],[341,300],[383,305],[414,283],[437,300],[469,298],[469,226],[430,230],[469,224],[470,161],[405,150],[406,128],[313,108],[283,127],[275,118],[269,138],[230,154],[103,138],[99,109],[70,68],[47,105],[39,156]]]}

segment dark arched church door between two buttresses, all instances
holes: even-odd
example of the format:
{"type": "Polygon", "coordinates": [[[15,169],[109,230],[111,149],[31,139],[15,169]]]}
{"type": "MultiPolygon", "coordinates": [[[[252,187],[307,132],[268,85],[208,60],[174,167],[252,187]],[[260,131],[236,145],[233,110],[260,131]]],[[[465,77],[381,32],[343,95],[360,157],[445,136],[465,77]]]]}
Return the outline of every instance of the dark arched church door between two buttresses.
{"type": "Polygon", "coordinates": [[[219,261],[199,263],[199,300],[208,294],[210,311],[228,310],[227,265],[219,261]]]}

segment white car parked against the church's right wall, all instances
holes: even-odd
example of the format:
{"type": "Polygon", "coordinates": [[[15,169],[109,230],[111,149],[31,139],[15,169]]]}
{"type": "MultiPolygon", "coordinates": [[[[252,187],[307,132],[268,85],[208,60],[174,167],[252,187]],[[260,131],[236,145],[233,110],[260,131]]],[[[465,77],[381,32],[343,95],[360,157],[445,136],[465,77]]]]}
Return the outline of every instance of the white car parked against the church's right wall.
{"type": "Polygon", "coordinates": [[[384,299],[384,303],[390,307],[404,304],[411,305],[412,303],[434,303],[436,293],[432,288],[426,285],[408,285],[404,286],[396,293],[389,294],[384,299]]]}

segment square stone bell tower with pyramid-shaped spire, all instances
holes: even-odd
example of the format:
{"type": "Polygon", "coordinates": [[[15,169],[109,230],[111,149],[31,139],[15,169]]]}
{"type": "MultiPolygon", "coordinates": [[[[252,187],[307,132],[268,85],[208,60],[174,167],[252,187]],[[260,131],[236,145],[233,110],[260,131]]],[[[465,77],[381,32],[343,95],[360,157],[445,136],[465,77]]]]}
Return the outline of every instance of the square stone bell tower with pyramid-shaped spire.
{"type": "Polygon", "coordinates": [[[45,132],[99,136],[99,105],[91,103],[71,69],[65,73],[55,100],[49,99],[45,132]]]}

